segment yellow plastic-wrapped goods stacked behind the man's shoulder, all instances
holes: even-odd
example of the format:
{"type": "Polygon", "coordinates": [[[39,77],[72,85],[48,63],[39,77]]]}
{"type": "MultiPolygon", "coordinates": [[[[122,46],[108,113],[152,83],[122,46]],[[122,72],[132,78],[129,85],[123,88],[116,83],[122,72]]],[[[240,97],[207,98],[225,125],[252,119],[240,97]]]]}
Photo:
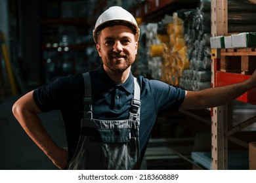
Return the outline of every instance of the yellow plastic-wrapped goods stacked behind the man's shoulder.
{"type": "Polygon", "coordinates": [[[187,48],[183,34],[183,22],[177,16],[165,16],[165,19],[158,23],[157,37],[158,44],[150,44],[150,56],[160,59],[158,73],[160,79],[168,84],[179,86],[179,78],[182,71],[189,67],[187,48]]]}

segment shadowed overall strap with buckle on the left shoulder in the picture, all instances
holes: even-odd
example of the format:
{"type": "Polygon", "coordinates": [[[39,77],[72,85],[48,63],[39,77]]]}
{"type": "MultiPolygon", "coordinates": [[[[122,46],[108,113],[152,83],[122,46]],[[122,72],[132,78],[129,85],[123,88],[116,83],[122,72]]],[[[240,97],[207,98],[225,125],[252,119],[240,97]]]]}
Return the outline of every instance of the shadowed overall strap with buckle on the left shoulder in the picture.
{"type": "Polygon", "coordinates": [[[84,118],[93,118],[93,97],[91,95],[91,78],[89,73],[83,73],[85,95],[83,97],[84,118]]]}

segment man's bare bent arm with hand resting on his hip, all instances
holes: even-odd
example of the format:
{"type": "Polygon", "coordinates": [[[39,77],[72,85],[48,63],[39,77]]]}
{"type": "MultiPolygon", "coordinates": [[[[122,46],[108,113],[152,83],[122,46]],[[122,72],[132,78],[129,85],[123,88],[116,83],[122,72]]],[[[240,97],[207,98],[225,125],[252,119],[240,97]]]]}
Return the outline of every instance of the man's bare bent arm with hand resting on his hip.
{"type": "Polygon", "coordinates": [[[37,114],[41,110],[33,100],[33,91],[27,93],[12,106],[12,112],[24,131],[43,150],[59,169],[64,169],[68,163],[68,152],[57,146],[45,131],[45,127],[37,114]]]}

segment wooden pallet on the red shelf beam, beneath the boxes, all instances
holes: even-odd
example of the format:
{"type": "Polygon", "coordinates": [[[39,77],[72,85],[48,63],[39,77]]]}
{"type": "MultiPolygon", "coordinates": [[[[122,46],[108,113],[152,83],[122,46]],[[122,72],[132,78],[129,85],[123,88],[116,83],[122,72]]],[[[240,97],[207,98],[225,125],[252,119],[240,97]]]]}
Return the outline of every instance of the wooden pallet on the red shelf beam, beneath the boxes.
{"type": "Polygon", "coordinates": [[[256,48],[221,49],[221,71],[251,75],[256,69],[256,48]]]}

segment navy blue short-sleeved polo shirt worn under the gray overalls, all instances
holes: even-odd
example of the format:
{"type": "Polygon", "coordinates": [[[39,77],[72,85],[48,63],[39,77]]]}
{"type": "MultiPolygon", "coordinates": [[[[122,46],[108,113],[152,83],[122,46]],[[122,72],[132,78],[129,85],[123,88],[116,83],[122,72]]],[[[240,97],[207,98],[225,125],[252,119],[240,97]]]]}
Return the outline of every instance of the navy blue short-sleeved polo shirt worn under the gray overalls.
{"type": "MultiPolygon", "coordinates": [[[[129,118],[134,80],[130,73],[123,83],[114,82],[100,65],[90,71],[93,95],[93,118],[98,120],[124,120],[129,118]]],[[[185,91],[158,80],[137,77],[140,86],[140,154],[144,156],[155,120],[163,110],[179,110],[185,91]]],[[[37,88],[33,98],[43,111],[60,110],[66,127],[70,159],[74,156],[83,116],[83,75],[70,75],[37,88]]]]}

